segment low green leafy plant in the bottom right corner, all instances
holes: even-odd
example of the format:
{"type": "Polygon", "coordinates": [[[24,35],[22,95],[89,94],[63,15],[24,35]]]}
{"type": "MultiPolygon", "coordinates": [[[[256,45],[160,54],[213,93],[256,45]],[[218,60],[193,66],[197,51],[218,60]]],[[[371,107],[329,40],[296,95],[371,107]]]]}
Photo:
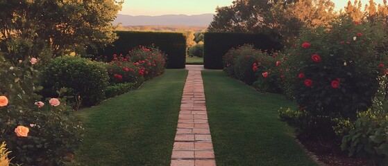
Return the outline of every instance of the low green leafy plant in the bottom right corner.
{"type": "Polygon", "coordinates": [[[380,77],[380,89],[373,107],[357,113],[357,120],[342,139],[341,149],[349,156],[366,156],[373,165],[388,164],[387,76],[380,77]]]}

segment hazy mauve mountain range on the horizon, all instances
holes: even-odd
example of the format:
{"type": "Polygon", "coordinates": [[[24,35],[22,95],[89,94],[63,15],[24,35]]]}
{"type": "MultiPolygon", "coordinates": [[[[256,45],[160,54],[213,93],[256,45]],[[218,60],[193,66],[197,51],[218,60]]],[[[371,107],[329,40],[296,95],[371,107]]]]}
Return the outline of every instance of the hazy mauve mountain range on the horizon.
{"type": "Polygon", "coordinates": [[[158,26],[158,25],[180,25],[180,26],[208,26],[213,20],[213,14],[203,15],[161,15],[161,16],[131,16],[117,15],[114,25],[121,23],[121,26],[158,26]]]}

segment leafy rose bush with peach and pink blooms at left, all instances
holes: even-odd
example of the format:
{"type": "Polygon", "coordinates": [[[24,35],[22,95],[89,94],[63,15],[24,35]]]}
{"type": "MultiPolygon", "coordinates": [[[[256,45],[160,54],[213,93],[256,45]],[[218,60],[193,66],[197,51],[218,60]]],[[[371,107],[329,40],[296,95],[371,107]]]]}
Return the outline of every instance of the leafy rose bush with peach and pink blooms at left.
{"type": "Polygon", "coordinates": [[[0,141],[7,142],[12,151],[8,154],[13,158],[12,162],[59,165],[71,159],[82,140],[83,128],[72,116],[65,98],[58,98],[56,107],[46,102],[48,99],[41,100],[37,95],[37,91],[42,89],[42,86],[37,86],[40,72],[33,68],[37,65],[31,64],[33,59],[10,64],[0,56],[0,61],[0,95],[8,98],[8,104],[0,107],[0,141]],[[38,108],[35,104],[38,101],[45,106],[38,108]],[[28,136],[17,136],[17,127],[29,129],[24,133],[28,136]]]}

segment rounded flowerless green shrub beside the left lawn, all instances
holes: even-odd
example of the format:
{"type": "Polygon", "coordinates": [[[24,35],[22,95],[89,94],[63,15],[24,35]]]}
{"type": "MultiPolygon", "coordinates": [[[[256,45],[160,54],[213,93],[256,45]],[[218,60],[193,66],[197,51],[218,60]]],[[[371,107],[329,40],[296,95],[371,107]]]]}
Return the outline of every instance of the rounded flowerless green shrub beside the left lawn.
{"type": "Polygon", "coordinates": [[[56,97],[56,91],[65,87],[66,95],[81,95],[83,105],[92,106],[105,99],[108,86],[106,68],[81,57],[58,57],[53,59],[42,74],[45,95],[56,97]]]}

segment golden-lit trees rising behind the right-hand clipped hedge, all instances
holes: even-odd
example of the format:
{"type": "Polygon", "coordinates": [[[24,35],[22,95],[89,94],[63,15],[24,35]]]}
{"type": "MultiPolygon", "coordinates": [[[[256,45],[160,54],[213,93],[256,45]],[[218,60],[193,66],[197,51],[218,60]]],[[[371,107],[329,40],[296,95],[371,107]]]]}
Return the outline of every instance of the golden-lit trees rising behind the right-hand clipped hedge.
{"type": "Polygon", "coordinates": [[[330,0],[233,1],[216,9],[208,32],[269,33],[287,46],[303,26],[317,27],[335,17],[330,0]]]}

